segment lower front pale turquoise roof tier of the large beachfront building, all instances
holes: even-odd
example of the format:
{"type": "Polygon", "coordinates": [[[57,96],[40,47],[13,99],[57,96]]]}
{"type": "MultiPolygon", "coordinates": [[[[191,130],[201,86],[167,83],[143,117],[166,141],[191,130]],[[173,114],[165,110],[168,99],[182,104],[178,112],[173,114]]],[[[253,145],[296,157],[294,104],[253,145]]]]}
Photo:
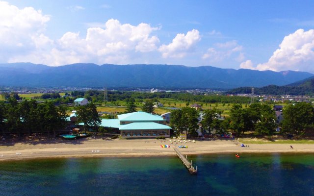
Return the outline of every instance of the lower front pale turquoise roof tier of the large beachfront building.
{"type": "Polygon", "coordinates": [[[130,123],[126,125],[121,125],[120,130],[149,130],[149,129],[171,129],[170,126],[159,124],[159,123],[130,123]]]}

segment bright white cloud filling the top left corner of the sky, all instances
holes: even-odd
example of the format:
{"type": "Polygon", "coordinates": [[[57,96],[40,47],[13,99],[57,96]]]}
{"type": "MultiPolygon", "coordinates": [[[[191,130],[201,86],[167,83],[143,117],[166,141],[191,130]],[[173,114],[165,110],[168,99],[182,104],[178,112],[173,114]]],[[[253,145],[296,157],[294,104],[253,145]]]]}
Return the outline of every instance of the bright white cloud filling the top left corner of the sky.
{"type": "Polygon", "coordinates": [[[43,15],[41,10],[32,7],[19,9],[0,1],[0,60],[50,42],[43,34],[49,20],[50,16],[43,15]]]}

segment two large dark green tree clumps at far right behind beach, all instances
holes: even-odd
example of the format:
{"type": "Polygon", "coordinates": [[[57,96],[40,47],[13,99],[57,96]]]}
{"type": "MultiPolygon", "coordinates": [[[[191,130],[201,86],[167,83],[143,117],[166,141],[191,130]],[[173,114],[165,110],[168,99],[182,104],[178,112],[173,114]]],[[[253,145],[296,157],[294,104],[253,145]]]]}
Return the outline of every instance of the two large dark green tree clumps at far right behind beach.
{"type": "MultiPolygon", "coordinates": [[[[237,133],[255,131],[258,135],[272,135],[278,124],[275,123],[275,111],[269,105],[251,104],[247,108],[235,104],[230,111],[229,128],[237,133]]],[[[314,134],[314,107],[311,103],[289,104],[283,110],[281,133],[292,135],[314,134]]]]}

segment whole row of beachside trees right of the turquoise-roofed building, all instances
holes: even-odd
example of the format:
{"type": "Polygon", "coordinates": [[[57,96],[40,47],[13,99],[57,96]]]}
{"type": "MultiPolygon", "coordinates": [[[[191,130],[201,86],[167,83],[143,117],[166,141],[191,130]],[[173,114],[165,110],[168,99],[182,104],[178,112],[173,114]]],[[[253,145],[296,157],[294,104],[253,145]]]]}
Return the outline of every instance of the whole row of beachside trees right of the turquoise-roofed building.
{"type": "MultiPolygon", "coordinates": [[[[215,134],[225,134],[230,131],[244,134],[254,131],[256,135],[272,135],[276,132],[275,111],[269,106],[253,103],[242,108],[241,104],[234,104],[230,111],[230,117],[221,120],[222,111],[213,108],[206,109],[200,128],[215,134]]],[[[283,111],[281,133],[291,135],[314,134],[314,108],[310,103],[300,102],[288,105],[283,111]]],[[[189,136],[197,136],[198,112],[194,108],[184,107],[171,113],[171,126],[177,133],[187,133],[189,136]]]]}

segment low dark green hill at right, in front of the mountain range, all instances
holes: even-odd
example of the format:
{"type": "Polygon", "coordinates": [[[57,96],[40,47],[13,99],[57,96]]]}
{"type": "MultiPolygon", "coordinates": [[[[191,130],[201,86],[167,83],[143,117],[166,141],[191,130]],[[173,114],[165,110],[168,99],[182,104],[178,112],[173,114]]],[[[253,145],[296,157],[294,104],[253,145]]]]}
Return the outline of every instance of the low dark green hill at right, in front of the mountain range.
{"type": "MultiPolygon", "coordinates": [[[[240,87],[227,91],[227,94],[250,94],[252,87],[240,87]]],[[[314,95],[314,76],[285,86],[268,85],[254,88],[258,95],[314,95]]]]}

